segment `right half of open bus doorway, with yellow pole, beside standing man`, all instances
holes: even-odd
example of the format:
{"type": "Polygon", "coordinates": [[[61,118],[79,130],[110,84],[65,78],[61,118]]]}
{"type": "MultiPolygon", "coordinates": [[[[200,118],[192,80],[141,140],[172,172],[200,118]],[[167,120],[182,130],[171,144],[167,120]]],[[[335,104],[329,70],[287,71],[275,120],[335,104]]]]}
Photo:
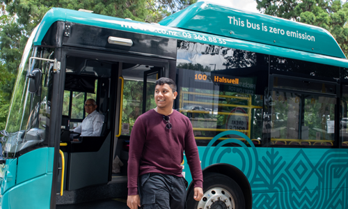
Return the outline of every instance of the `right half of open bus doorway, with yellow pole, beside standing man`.
{"type": "MultiPolygon", "coordinates": [[[[127,160],[129,138],[136,118],[145,111],[156,107],[154,93],[155,82],[162,76],[168,66],[167,61],[139,61],[139,63],[122,63],[121,77],[123,79],[120,94],[119,130],[114,142],[112,182],[127,182],[127,160]],[[145,64],[141,64],[145,63],[145,64]]],[[[116,125],[117,127],[117,125],[116,125]]]]}

